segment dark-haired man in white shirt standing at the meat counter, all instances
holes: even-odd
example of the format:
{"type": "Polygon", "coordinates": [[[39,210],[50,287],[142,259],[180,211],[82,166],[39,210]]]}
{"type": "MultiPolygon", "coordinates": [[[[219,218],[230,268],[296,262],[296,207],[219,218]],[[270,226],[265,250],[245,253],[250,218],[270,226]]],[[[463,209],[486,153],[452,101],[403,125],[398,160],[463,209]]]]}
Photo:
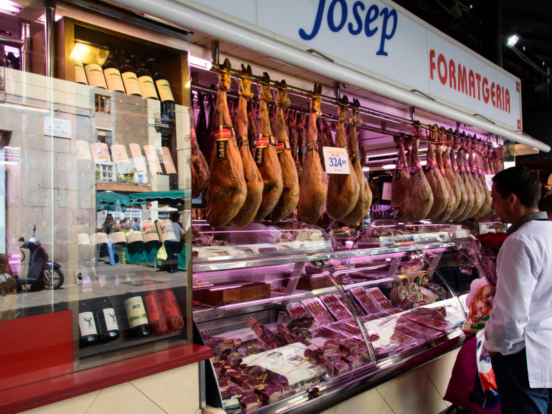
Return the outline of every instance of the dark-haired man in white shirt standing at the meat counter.
{"type": "Polygon", "coordinates": [[[497,291],[485,325],[502,414],[552,412],[552,222],[539,212],[540,181],[516,166],[491,190],[498,217],[512,223],[497,258],[497,291]]]}

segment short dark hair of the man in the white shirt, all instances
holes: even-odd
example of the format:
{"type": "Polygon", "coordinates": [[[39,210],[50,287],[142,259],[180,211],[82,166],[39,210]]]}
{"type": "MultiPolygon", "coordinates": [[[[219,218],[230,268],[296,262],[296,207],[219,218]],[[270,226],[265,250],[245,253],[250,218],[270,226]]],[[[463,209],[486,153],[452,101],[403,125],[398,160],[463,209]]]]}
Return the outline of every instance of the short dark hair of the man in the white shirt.
{"type": "Polygon", "coordinates": [[[497,192],[506,198],[515,194],[526,207],[537,208],[540,198],[540,181],[529,168],[515,166],[498,172],[493,177],[497,192]]]}

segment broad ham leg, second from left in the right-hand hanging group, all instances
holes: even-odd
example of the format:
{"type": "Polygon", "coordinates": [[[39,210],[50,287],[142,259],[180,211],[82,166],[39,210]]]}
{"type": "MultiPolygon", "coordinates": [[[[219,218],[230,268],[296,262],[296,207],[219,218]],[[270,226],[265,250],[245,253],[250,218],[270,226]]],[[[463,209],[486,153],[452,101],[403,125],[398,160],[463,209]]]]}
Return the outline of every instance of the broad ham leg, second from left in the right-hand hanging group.
{"type": "Polygon", "coordinates": [[[422,170],[422,164],[420,164],[419,144],[420,139],[415,135],[412,141],[408,193],[406,201],[404,201],[404,216],[411,222],[424,219],[433,206],[433,193],[422,170]]]}

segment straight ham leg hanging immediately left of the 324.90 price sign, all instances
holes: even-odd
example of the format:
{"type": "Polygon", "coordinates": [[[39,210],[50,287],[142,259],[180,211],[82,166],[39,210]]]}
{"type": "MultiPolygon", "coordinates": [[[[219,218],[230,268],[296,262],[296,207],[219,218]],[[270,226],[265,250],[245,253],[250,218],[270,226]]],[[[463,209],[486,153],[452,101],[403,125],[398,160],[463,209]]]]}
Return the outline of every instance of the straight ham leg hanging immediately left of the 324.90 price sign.
{"type": "Polygon", "coordinates": [[[313,224],[322,216],[328,193],[328,180],[320,164],[317,151],[316,117],[320,112],[322,85],[315,84],[311,100],[311,116],[308,117],[306,155],[299,181],[299,204],[297,213],[306,224],[313,224]]]}

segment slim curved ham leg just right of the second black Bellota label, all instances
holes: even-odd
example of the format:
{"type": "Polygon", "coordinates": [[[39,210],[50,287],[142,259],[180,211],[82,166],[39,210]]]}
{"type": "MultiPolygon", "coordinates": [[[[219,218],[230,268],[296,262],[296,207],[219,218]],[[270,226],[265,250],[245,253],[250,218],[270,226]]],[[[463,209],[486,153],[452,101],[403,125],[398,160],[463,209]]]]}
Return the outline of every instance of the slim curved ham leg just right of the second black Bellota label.
{"type": "Polygon", "coordinates": [[[299,202],[299,177],[295,168],[295,159],[291,154],[284,108],[290,106],[286,81],[276,82],[276,153],[282,168],[282,195],[270,215],[270,221],[277,223],[293,213],[299,202]]]}

